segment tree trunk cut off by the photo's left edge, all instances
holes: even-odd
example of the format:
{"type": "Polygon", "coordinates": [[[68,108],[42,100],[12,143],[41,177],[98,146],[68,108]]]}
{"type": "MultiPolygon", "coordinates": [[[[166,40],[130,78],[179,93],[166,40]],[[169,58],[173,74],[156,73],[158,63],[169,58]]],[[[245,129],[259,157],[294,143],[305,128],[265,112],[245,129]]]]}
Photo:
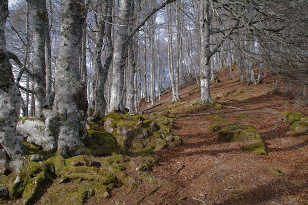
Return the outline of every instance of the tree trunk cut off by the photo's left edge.
{"type": "Polygon", "coordinates": [[[17,172],[22,166],[22,150],[16,135],[20,115],[21,94],[14,81],[6,50],[5,24],[8,1],[0,2],[0,174],[7,169],[17,172]]]}

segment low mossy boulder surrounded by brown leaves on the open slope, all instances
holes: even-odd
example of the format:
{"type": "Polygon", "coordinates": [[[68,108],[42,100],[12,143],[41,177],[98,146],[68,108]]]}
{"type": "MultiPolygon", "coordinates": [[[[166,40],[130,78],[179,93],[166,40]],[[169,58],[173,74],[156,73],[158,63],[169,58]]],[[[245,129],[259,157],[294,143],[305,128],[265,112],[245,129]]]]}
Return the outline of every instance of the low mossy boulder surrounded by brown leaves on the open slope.
{"type": "Polygon", "coordinates": [[[224,142],[254,142],[260,140],[260,135],[251,125],[237,125],[219,131],[218,139],[224,142]]]}

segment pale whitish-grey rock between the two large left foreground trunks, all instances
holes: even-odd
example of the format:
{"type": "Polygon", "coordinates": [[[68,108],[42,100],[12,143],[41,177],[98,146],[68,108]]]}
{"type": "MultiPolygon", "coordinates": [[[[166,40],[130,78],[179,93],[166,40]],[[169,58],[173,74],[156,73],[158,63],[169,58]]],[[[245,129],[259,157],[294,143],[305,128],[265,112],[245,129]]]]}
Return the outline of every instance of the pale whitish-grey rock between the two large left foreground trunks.
{"type": "Polygon", "coordinates": [[[45,135],[45,128],[45,122],[34,117],[25,117],[18,121],[16,133],[29,143],[42,146],[45,150],[52,150],[56,148],[57,143],[52,134],[45,135]]]}

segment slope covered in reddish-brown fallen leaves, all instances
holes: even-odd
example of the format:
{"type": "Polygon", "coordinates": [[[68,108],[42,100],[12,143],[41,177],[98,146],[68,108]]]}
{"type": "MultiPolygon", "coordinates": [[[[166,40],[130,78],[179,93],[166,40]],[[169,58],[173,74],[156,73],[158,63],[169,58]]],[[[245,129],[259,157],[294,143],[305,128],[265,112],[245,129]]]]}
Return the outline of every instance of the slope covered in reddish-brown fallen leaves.
{"type": "MultiPolygon", "coordinates": [[[[230,80],[227,73],[220,74],[221,83],[211,85],[212,98],[223,103],[220,109],[189,110],[191,101],[200,99],[200,88],[195,84],[180,91],[184,93],[180,102],[185,104],[175,113],[188,116],[175,121],[172,134],[182,137],[183,144],[156,152],[161,161],[152,169],[154,176],[173,185],[139,182],[139,187],[129,193],[123,187],[115,189],[104,204],[308,204],[308,135],[293,133],[290,124],[283,121],[273,132],[283,111],[308,116],[307,106],[276,93],[270,75],[261,85],[246,86],[230,80]],[[230,122],[253,125],[268,155],[242,150],[240,147],[247,143],[218,140],[217,132],[210,132],[206,126],[205,116],[214,114],[230,122]],[[278,174],[268,167],[276,167],[278,174]]],[[[167,94],[161,100],[170,97],[167,94]]],[[[169,104],[166,101],[146,114],[161,113],[169,104]]],[[[136,172],[126,171],[131,176],[136,172]]]]}

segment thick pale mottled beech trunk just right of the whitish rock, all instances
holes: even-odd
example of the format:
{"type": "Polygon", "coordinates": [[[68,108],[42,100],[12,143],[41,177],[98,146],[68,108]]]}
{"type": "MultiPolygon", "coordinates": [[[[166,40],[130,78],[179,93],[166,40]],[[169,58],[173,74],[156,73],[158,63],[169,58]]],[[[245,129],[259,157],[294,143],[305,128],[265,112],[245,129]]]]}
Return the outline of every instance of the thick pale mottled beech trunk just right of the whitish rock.
{"type": "Polygon", "coordinates": [[[54,109],[59,114],[57,153],[81,154],[87,136],[87,96],[79,72],[82,27],[86,13],[82,0],[62,0],[61,46],[55,69],[54,109]]]}

